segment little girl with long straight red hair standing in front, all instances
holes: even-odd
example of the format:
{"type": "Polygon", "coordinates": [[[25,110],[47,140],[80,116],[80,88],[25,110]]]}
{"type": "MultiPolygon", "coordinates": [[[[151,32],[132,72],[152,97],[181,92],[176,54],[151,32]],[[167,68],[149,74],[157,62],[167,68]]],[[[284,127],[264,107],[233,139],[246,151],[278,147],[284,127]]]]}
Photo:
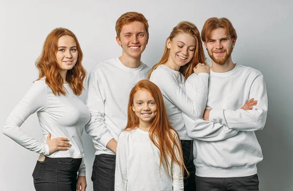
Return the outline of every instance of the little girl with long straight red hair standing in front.
{"type": "Polygon", "coordinates": [[[183,191],[184,169],[162,93],[142,80],[130,92],[127,125],[118,139],[115,191],[183,191]]]}

